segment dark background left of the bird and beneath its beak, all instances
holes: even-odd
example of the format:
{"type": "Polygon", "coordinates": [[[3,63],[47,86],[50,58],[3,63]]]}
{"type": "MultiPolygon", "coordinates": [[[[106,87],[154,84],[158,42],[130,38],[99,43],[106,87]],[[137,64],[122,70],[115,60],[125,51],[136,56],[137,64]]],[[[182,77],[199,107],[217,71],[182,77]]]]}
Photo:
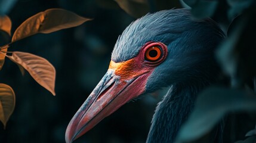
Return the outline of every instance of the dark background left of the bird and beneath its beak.
{"type": "MultiPolygon", "coordinates": [[[[21,76],[16,64],[6,58],[0,79],[14,89],[16,108],[5,130],[0,124],[0,142],[64,142],[70,119],[107,71],[116,39],[134,20],[118,5],[109,9],[92,0],[20,0],[8,14],[12,33],[24,20],[48,8],[63,8],[94,20],[11,45],[8,51],[30,52],[53,64],[56,96],[29,73],[21,76]]],[[[152,97],[130,102],[76,142],[145,142],[157,102],[152,97]]]]}

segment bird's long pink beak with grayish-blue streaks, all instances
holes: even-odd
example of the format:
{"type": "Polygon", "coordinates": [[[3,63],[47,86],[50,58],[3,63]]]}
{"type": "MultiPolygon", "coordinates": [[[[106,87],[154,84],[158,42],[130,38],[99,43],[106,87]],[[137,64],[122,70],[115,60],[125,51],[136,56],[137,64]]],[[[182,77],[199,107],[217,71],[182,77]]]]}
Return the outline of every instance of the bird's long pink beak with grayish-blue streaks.
{"type": "Polygon", "coordinates": [[[121,75],[116,73],[115,68],[109,69],[67,126],[66,142],[70,143],[84,135],[104,117],[118,110],[132,98],[143,94],[150,73],[143,71],[139,75],[138,72],[121,75]]]}

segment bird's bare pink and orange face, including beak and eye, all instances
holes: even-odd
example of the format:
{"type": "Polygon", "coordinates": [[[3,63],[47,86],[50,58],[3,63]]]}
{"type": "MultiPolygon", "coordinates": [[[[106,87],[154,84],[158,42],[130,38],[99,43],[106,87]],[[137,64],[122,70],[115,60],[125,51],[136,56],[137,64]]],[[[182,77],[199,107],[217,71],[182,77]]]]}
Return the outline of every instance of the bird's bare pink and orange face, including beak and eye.
{"type": "Polygon", "coordinates": [[[104,117],[146,91],[148,78],[168,55],[161,42],[147,42],[138,55],[127,61],[110,61],[109,69],[70,121],[66,142],[83,135],[104,117]]]}

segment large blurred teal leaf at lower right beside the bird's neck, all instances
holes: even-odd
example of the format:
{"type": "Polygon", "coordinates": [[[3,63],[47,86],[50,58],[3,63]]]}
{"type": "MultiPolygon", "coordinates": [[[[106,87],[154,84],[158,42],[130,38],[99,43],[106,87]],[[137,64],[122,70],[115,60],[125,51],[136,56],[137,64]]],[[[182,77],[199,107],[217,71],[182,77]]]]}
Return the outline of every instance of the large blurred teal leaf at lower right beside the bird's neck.
{"type": "Polygon", "coordinates": [[[208,133],[230,111],[256,111],[251,92],[213,86],[199,94],[195,108],[178,133],[178,142],[194,141],[208,133]]]}

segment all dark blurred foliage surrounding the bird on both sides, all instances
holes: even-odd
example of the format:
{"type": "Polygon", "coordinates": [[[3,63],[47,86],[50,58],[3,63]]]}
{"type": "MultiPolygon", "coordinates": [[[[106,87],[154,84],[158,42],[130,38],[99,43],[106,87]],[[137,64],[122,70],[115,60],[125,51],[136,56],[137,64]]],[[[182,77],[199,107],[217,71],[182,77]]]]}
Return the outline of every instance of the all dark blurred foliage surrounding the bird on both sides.
{"type": "MultiPolygon", "coordinates": [[[[220,119],[224,119],[223,142],[255,142],[255,1],[180,1],[13,0],[10,8],[1,12],[11,17],[13,27],[48,8],[64,8],[94,20],[73,29],[47,36],[36,35],[13,43],[14,47],[22,47],[24,51],[33,52],[53,63],[59,71],[56,78],[57,97],[45,96],[49,93],[36,85],[27,74],[21,78],[17,67],[6,61],[0,79],[17,91],[17,104],[8,128],[0,128],[0,141],[64,142],[69,120],[106,72],[116,39],[134,20],[132,17],[187,4],[195,18],[211,17],[227,33],[216,57],[225,73],[221,78],[227,79],[229,84],[220,83],[218,88],[210,87],[199,95],[195,110],[178,139],[193,142],[211,132],[220,119]],[[208,102],[211,104],[206,104],[208,102]],[[198,126],[193,125],[195,121],[198,126]]],[[[5,7],[2,2],[1,7],[5,7]]],[[[76,142],[146,141],[158,100],[147,97],[133,105],[124,105],[76,142]]]]}

